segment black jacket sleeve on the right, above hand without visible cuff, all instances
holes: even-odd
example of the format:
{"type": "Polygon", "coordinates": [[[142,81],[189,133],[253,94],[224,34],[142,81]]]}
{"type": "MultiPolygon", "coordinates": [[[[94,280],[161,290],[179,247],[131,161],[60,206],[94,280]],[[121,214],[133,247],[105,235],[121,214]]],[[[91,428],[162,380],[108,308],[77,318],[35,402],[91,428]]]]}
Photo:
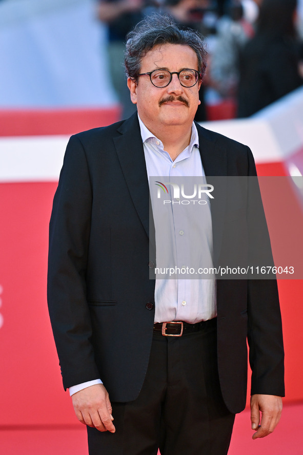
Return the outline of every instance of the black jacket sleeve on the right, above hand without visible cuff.
{"type": "MultiPolygon", "coordinates": [[[[256,176],[249,150],[249,176],[256,176]]],[[[249,177],[250,180],[250,177],[249,177]]],[[[249,181],[250,258],[259,266],[274,264],[270,238],[257,178],[249,181]],[[253,200],[253,202],[251,202],[253,200]],[[251,205],[251,206],[250,206],[251,205]],[[258,253],[258,258],[254,257],[258,253]],[[260,263],[260,258],[264,262],[260,263]]],[[[277,282],[273,279],[248,280],[248,344],[252,369],[251,394],[285,395],[284,348],[277,282]]]]}

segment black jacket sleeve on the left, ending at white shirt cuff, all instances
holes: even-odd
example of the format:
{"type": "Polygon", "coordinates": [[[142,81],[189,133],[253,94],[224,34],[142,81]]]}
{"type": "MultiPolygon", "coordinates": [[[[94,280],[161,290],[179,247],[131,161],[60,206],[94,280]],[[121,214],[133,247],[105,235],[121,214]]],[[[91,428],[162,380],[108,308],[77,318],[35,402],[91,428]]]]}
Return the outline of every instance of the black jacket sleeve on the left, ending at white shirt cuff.
{"type": "Polygon", "coordinates": [[[48,306],[65,389],[99,377],[86,301],[92,191],[82,144],[71,137],[50,221],[48,306]]]}

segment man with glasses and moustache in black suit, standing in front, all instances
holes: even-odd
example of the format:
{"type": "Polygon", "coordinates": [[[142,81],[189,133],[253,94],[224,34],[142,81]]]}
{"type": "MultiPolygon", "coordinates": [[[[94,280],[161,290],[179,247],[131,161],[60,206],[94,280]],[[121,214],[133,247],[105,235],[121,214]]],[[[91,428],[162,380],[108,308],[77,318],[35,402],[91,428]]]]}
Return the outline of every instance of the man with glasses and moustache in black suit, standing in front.
{"type": "MultiPolygon", "coordinates": [[[[75,135],[67,147],[50,223],[48,300],[64,387],[88,425],[90,455],[156,455],[158,447],[226,454],[246,402],[247,336],[253,438],[280,418],[275,280],[149,279],[148,177],[256,175],[248,147],[193,122],[205,54],[196,32],[147,18],[129,35],[125,59],[138,112],[75,135]]],[[[172,207],[179,254],[187,231],[172,207]]],[[[230,225],[253,218],[241,209],[236,223],[222,222],[222,206],[207,207],[201,225],[181,219],[195,225],[196,250],[215,258],[230,225]]],[[[155,231],[157,243],[156,218],[155,231]]]]}

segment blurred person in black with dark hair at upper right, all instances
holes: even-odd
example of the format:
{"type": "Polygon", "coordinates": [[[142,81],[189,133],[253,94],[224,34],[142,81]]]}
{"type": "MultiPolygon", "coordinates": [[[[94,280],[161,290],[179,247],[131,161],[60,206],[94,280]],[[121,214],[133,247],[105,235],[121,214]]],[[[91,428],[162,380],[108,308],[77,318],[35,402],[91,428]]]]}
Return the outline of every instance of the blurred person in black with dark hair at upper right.
{"type": "Polygon", "coordinates": [[[240,54],[238,117],[248,117],[303,83],[296,0],[264,0],[257,30],[240,54]]]}

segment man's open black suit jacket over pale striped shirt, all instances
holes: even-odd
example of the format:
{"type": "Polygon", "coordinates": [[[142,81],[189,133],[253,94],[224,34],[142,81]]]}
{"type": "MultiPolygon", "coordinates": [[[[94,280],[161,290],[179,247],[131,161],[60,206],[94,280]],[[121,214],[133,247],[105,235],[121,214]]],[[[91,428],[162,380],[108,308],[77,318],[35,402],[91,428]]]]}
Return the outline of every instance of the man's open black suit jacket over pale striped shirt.
{"type": "MultiPolygon", "coordinates": [[[[248,147],[197,128],[206,176],[256,175],[248,147]]],[[[215,201],[216,262],[227,240],[225,211],[215,201]]],[[[243,210],[235,214],[246,219],[243,210]]],[[[137,397],[154,321],[150,259],[149,186],[135,114],[72,136],[67,146],[50,221],[48,269],[65,388],[100,377],[113,402],[137,397]]],[[[220,385],[231,412],[245,407],[247,337],[252,393],[284,395],[275,280],[218,280],[217,334],[220,385]]]]}

